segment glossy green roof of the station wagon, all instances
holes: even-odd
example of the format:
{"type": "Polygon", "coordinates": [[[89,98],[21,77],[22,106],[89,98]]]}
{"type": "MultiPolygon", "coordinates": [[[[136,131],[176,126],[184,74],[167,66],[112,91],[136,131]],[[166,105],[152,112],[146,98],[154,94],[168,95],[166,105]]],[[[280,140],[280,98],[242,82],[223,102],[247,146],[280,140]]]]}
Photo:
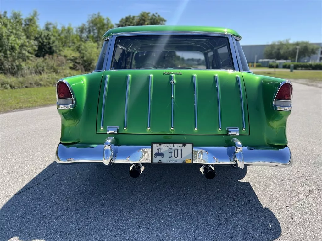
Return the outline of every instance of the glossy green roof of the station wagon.
{"type": "Polygon", "coordinates": [[[216,32],[216,33],[228,33],[241,38],[238,32],[220,27],[206,27],[206,26],[170,26],[170,25],[146,25],[146,26],[129,26],[113,28],[107,31],[103,35],[103,39],[109,37],[114,33],[126,33],[126,32],[148,32],[148,31],[189,31],[189,32],[216,32]]]}

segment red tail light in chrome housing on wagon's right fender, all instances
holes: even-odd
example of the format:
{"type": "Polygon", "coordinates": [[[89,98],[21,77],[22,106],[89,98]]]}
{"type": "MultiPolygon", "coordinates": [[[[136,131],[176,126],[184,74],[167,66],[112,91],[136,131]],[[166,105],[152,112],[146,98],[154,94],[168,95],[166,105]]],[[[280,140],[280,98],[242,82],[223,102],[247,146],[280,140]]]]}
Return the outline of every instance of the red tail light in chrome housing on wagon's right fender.
{"type": "Polygon", "coordinates": [[[284,81],[277,88],[277,93],[273,101],[273,107],[278,111],[290,111],[292,109],[292,92],[291,82],[284,81]]]}

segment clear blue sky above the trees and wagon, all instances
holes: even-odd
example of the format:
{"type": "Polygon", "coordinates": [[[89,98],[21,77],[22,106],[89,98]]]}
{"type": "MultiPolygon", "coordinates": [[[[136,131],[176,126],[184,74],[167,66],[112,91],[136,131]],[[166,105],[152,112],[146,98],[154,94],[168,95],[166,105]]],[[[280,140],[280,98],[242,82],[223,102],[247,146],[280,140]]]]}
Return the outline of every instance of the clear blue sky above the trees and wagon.
{"type": "Polygon", "coordinates": [[[231,28],[242,45],[276,40],[322,42],[322,0],[0,0],[0,11],[36,9],[46,21],[78,26],[100,12],[113,23],[141,11],[159,13],[167,25],[231,28]]]}

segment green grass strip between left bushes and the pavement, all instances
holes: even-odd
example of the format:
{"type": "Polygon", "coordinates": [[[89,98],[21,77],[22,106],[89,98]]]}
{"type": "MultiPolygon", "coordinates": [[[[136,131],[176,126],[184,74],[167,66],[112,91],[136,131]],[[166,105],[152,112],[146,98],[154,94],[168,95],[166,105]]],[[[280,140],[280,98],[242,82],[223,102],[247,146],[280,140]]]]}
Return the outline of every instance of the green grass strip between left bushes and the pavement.
{"type": "Polygon", "coordinates": [[[0,113],[55,104],[55,87],[0,90],[0,113]]]}

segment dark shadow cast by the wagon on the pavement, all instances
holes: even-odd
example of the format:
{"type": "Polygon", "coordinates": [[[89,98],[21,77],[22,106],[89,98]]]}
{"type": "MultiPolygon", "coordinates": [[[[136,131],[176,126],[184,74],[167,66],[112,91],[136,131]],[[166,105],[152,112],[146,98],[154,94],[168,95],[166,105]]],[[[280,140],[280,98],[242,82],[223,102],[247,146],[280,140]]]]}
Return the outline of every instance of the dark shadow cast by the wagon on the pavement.
{"type": "Polygon", "coordinates": [[[52,163],[0,210],[9,240],[275,240],[281,227],[263,208],[247,172],[196,165],[52,163]]]}

